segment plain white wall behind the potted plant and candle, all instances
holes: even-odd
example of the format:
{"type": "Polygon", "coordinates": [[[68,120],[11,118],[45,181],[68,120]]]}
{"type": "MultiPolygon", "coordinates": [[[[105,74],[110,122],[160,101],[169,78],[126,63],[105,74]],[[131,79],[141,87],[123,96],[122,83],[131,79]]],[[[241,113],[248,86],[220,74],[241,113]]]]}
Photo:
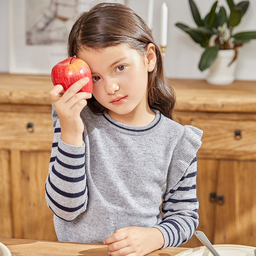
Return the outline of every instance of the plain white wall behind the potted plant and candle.
{"type": "MultiPolygon", "coordinates": [[[[39,0],[38,0],[39,1],[39,0]]],[[[235,0],[240,2],[241,0],[235,0]]],[[[155,0],[153,33],[156,41],[160,39],[160,10],[163,2],[168,6],[168,46],[165,55],[165,69],[168,76],[173,78],[204,78],[205,70],[198,69],[201,54],[204,51],[185,32],[175,26],[175,23],[185,23],[196,27],[191,15],[188,0],[155,0]]],[[[215,0],[195,0],[201,16],[205,16],[215,0]]],[[[226,0],[219,0],[219,4],[229,8],[226,0]]],[[[147,19],[148,0],[126,0],[126,4],[147,19]]],[[[235,32],[256,30],[256,0],[250,0],[249,9],[242,18],[235,32]]],[[[124,21],[125,22],[125,21],[124,21]]],[[[8,0],[0,1],[0,72],[8,72],[8,0]]],[[[236,78],[241,80],[256,80],[256,40],[240,47],[236,78]]]]}

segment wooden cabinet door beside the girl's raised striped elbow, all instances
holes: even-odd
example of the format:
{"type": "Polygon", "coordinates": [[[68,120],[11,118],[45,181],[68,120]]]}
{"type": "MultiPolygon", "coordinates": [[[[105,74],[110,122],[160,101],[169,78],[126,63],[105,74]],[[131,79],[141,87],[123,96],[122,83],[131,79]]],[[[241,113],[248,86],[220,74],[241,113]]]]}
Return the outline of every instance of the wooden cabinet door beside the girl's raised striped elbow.
{"type": "Polygon", "coordinates": [[[12,157],[14,238],[57,240],[44,198],[50,151],[17,151],[12,157]]]}

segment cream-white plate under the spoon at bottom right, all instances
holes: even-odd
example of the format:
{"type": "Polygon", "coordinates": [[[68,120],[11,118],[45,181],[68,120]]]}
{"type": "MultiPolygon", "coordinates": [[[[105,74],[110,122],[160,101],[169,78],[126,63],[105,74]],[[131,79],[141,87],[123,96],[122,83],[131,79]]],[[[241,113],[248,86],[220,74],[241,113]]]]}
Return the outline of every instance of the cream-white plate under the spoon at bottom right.
{"type": "MultiPolygon", "coordinates": [[[[213,247],[220,256],[254,256],[255,249],[252,246],[237,244],[214,244],[213,247]]],[[[212,256],[212,253],[205,246],[201,246],[180,252],[175,256],[212,256]]]]}

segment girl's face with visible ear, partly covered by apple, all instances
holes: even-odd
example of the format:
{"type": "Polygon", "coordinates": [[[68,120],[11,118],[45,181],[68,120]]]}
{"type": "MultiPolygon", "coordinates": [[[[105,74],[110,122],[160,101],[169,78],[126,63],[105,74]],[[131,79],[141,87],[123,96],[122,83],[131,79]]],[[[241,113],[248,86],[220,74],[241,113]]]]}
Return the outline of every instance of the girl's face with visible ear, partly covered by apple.
{"type": "Polygon", "coordinates": [[[143,114],[149,109],[147,83],[148,72],[156,63],[154,44],[148,44],[143,56],[125,44],[100,50],[85,48],[77,55],[91,68],[92,94],[108,109],[109,116],[114,118],[134,111],[143,114]]]}

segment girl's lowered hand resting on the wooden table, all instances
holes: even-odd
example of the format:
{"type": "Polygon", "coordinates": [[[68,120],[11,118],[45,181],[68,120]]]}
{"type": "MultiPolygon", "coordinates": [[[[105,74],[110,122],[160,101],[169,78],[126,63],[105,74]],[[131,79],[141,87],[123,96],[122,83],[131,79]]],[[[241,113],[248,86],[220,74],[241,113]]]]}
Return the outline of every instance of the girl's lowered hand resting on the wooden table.
{"type": "Polygon", "coordinates": [[[111,256],[143,256],[164,246],[164,236],[157,228],[127,227],[117,229],[104,240],[111,256]]]}

